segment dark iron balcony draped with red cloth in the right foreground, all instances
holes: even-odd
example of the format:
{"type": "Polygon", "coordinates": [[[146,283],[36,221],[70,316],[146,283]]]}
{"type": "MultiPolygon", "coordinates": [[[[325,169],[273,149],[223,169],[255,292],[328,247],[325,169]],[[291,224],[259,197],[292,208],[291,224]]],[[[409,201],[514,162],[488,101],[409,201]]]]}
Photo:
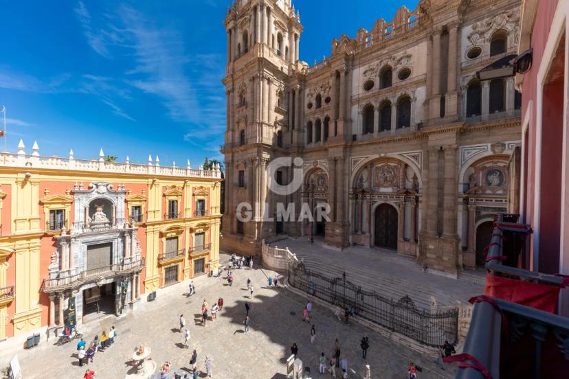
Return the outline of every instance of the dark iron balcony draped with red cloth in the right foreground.
{"type": "Polygon", "coordinates": [[[495,219],[487,282],[474,303],[456,378],[555,378],[569,369],[569,319],[557,314],[566,278],[528,270],[531,227],[495,219]],[[466,365],[465,365],[466,363],[466,365]]]}

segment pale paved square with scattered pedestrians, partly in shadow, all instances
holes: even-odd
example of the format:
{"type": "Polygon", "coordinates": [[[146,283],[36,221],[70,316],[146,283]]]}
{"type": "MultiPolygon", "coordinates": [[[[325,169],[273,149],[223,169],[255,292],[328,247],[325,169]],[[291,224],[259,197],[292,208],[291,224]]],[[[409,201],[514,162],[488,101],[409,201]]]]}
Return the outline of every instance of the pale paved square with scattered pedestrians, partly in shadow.
{"type": "MultiPolygon", "coordinates": [[[[447,371],[438,369],[432,363],[433,357],[412,352],[357,323],[343,325],[332,312],[317,305],[311,320],[315,324],[316,338],[311,344],[311,325],[302,321],[306,300],[286,288],[266,288],[267,275],[271,274],[272,271],[260,268],[236,270],[233,286],[228,286],[223,279],[199,277],[194,279],[197,294],[192,297],[187,297],[188,282],[166,288],[154,302],[142,303],[134,314],[115,321],[118,330],[115,345],[96,354],[89,367],[97,371],[97,379],[122,379],[135,371],[129,361],[135,346],[142,343],[152,349],[150,356],[158,367],[170,360],[174,369],[189,372],[190,354],[192,349],[197,349],[198,367],[202,371],[205,356],[212,356],[214,378],[284,379],[285,360],[295,342],[298,356],[311,367],[313,378],[330,378],[329,374],[318,374],[318,357],[320,352],[331,356],[334,339],[338,338],[342,356],[348,357],[349,378],[362,378],[366,362],[371,366],[372,378],[406,378],[411,361],[423,367],[421,379],[449,378],[454,374],[450,367],[447,371]],[[254,286],[249,334],[243,333],[245,302],[249,301],[247,277],[254,286]],[[201,303],[207,299],[211,306],[219,297],[225,302],[223,311],[216,321],[208,321],[204,328],[199,323],[201,303]],[[190,328],[190,348],[183,347],[183,334],[178,331],[180,313],[190,328]],[[367,361],[361,358],[359,348],[359,340],[364,335],[370,338],[367,361]]],[[[86,341],[100,334],[100,325],[106,327],[111,322],[112,319],[103,319],[85,325],[82,332],[86,341]]],[[[42,341],[30,351],[18,352],[23,378],[82,378],[86,367],[78,367],[77,341],[63,346],[54,346],[53,342],[42,341]]],[[[8,362],[9,358],[2,356],[1,362],[8,362]]],[[[202,373],[201,377],[204,376],[202,373]]]]}

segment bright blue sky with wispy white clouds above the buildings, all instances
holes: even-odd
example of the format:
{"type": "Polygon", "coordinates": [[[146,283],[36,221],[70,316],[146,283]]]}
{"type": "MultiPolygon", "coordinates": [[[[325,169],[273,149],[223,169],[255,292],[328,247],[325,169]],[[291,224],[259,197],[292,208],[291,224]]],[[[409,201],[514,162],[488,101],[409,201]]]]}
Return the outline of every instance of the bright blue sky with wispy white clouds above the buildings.
{"type": "MultiPolygon", "coordinates": [[[[297,0],[300,59],[331,51],[332,38],[370,30],[417,0],[297,0]]],[[[2,5],[0,106],[8,150],[124,161],[160,158],[195,167],[223,161],[227,0],[6,1],[2,5]]],[[[0,141],[3,148],[3,141],[0,141]]]]}

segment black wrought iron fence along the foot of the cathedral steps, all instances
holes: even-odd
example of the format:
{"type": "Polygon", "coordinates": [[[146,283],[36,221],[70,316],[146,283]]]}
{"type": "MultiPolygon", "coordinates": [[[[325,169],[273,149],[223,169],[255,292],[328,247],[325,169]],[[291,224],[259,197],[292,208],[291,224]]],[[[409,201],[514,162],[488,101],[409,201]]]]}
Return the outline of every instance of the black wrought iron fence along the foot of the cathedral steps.
{"type": "Polygon", "coordinates": [[[302,262],[289,261],[289,284],[309,295],[429,346],[458,342],[458,309],[430,312],[415,306],[410,297],[394,301],[357,286],[342,277],[310,271],[302,262]]]}

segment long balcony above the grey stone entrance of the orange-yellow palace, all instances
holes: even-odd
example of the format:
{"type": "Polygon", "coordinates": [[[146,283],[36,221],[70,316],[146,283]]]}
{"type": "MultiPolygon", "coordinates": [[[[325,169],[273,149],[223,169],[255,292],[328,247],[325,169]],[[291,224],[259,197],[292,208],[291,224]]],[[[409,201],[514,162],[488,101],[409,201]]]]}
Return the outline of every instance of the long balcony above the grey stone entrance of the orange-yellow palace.
{"type": "Polygon", "coordinates": [[[116,275],[136,273],[142,270],[145,264],[146,262],[144,257],[137,257],[131,258],[129,262],[115,263],[109,266],[91,268],[74,275],[67,275],[69,274],[68,272],[60,272],[58,273],[57,277],[43,280],[43,290],[44,292],[58,292],[61,290],[69,290],[71,288],[82,286],[83,284],[100,277],[113,277],[116,275]]]}

